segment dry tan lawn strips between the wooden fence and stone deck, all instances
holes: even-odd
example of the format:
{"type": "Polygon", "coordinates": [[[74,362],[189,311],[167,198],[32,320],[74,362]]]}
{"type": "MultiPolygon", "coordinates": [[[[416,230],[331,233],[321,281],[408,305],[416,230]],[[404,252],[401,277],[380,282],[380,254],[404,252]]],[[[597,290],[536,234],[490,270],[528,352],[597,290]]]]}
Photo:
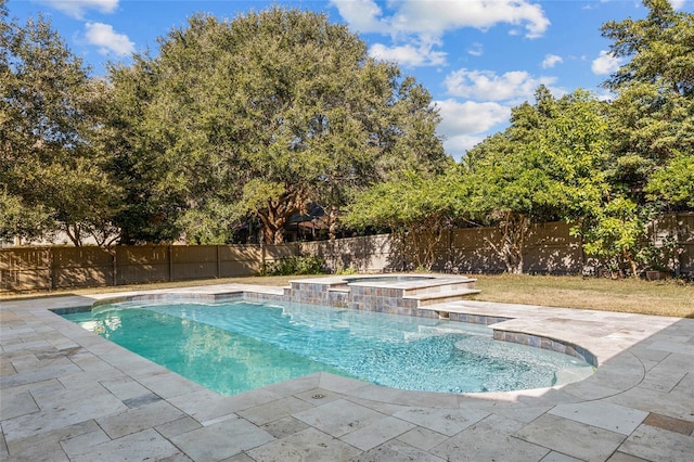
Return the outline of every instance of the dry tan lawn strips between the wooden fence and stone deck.
{"type": "MultiPolygon", "coordinates": [[[[224,278],[201,281],[164,282],[154,284],[120,285],[61,290],[33,294],[3,294],[1,299],[54,297],[61,295],[89,295],[113,292],[147,291],[154,288],[187,287],[213,284],[288,285],[293,279],[322,275],[275,275],[224,278]]],[[[474,299],[524,305],[542,305],[632,312],[640,315],[694,318],[694,285],[679,281],[611,280],[566,275],[479,274],[477,287],[481,293],[474,299]]]]}

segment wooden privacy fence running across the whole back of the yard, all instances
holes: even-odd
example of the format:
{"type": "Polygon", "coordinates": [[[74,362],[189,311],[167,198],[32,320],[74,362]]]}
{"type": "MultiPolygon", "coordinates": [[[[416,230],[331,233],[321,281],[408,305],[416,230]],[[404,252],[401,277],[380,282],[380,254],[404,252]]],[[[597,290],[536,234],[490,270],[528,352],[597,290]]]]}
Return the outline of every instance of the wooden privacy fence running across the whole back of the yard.
{"type": "MultiPolygon", "coordinates": [[[[577,274],[600,267],[588,258],[581,242],[565,222],[539,223],[528,233],[525,272],[577,274]]],[[[650,239],[661,245],[677,243],[672,265],[680,273],[694,273],[694,214],[667,215],[654,221],[650,239]]],[[[494,253],[496,228],[451,230],[435,248],[435,271],[503,272],[494,253]]],[[[387,234],[336,241],[281,245],[159,245],[101,247],[0,248],[0,293],[137,284],[162,281],[232,278],[258,274],[264,264],[282,257],[317,255],[332,271],[361,272],[413,269],[407,245],[393,245],[387,234]]]]}

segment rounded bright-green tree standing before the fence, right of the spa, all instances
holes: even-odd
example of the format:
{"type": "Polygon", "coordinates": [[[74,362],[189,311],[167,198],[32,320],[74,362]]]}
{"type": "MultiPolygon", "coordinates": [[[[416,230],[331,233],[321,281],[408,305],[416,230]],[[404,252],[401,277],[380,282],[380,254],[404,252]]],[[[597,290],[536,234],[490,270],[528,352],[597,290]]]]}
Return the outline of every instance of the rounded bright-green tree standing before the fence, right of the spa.
{"type": "Polygon", "coordinates": [[[576,220],[600,208],[608,187],[604,105],[577,90],[555,100],[540,87],[536,104],[512,111],[504,133],[470,153],[459,216],[498,228],[488,241],[510,273],[523,271],[525,242],[539,221],[576,220]]]}

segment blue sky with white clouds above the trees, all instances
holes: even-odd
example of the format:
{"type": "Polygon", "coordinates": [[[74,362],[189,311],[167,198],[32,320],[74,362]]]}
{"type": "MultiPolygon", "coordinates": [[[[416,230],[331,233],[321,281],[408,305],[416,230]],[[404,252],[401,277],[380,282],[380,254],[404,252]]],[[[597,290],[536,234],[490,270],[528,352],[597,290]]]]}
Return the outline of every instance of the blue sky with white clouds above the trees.
{"type": "MultiPolygon", "coordinates": [[[[692,13],[693,0],[671,0],[692,13]]],[[[272,5],[327,14],[369,44],[370,54],[396,61],[416,77],[440,110],[439,134],[460,158],[486,136],[507,126],[511,108],[532,102],[544,84],[556,97],[600,87],[619,62],[600,27],[634,20],[639,0],[10,0],[10,16],[24,23],[43,13],[69,49],[103,74],[108,61],[158,50],[156,39],[195,12],[220,18],[272,5]]]]}

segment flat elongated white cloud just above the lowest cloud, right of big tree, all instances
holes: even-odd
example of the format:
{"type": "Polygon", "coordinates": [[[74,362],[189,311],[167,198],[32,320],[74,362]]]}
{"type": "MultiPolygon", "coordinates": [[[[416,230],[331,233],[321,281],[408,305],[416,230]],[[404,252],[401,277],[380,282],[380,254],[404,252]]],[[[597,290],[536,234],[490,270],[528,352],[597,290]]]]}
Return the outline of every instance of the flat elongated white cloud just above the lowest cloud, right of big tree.
{"type": "Polygon", "coordinates": [[[448,94],[477,101],[528,100],[540,85],[551,86],[555,77],[532,77],[525,70],[512,70],[501,76],[492,70],[452,72],[444,80],[448,94]]]}

